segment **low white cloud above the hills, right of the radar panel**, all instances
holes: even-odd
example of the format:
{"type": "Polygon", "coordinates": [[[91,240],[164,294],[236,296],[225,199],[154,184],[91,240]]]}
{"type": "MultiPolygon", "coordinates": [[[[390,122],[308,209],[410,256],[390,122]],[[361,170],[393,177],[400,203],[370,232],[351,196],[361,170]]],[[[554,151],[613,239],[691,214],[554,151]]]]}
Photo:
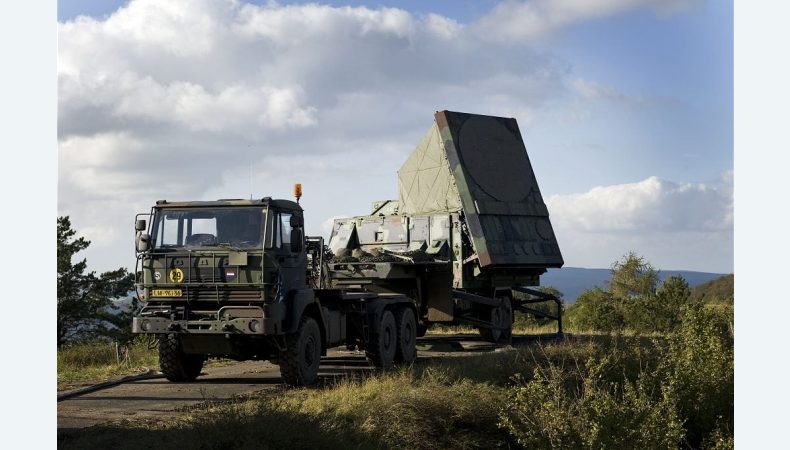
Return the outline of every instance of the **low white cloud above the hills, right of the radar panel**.
{"type": "Polygon", "coordinates": [[[708,184],[650,177],[546,199],[569,266],[605,267],[628,251],[667,269],[732,271],[732,172],[708,184]]]}

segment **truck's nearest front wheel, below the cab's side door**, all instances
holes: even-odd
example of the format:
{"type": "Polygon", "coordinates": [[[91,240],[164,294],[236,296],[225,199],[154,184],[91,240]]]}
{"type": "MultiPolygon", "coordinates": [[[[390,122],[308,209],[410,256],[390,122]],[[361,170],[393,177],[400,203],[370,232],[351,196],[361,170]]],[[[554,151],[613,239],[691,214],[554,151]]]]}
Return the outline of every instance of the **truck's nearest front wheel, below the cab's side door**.
{"type": "Polygon", "coordinates": [[[315,319],[302,317],[296,333],[285,337],[285,350],[278,360],[285,384],[309,386],[316,382],[321,362],[321,329],[315,319]]]}

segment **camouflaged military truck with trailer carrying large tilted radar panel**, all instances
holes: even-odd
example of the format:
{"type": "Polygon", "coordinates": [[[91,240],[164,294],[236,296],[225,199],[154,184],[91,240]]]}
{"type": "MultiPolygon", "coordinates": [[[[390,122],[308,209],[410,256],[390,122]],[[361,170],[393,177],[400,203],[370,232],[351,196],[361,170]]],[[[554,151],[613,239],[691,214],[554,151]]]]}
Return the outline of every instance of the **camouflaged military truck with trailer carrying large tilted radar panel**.
{"type": "Polygon", "coordinates": [[[434,323],[501,342],[520,310],[562,332],[559,299],[532,288],[563,260],[515,119],[437,112],[398,191],[335,220],[326,245],[305,236],[300,185],[295,202],[156,202],[135,222],[133,332],[158,340],[170,381],[226,357],[272,361],[290,385],[339,345],[411,363],[434,323]]]}

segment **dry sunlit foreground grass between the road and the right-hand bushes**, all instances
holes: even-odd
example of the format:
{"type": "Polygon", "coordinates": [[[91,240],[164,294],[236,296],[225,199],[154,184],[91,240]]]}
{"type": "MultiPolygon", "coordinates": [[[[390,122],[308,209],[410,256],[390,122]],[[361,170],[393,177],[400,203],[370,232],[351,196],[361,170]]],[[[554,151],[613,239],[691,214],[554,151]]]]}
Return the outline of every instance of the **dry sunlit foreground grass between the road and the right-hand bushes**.
{"type": "Polygon", "coordinates": [[[572,339],[432,360],[321,388],[275,389],[171,419],[63,435],[59,447],[514,448],[515,438],[500,425],[514,386],[534,379],[536,369],[570,370],[613,345],[643,345],[640,339],[572,339]]]}

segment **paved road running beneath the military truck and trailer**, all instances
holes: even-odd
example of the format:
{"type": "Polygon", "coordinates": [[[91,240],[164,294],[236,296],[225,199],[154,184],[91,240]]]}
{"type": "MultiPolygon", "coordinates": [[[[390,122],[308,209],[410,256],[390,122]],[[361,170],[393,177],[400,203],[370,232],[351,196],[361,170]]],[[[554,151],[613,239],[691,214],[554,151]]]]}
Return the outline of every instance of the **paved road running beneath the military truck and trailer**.
{"type": "MultiPolygon", "coordinates": [[[[514,345],[534,338],[514,338],[514,345]]],[[[443,358],[494,351],[493,344],[476,336],[428,336],[418,341],[419,358],[443,358]]],[[[364,353],[332,349],[322,358],[322,380],[373,370],[364,353]]],[[[279,367],[269,362],[245,361],[204,369],[192,383],[170,383],[164,378],[133,381],[58,402],[58,430],[84,428],[108,420],[171,415],[208,400],[228,399],[282,386],[279,367]]]]}

